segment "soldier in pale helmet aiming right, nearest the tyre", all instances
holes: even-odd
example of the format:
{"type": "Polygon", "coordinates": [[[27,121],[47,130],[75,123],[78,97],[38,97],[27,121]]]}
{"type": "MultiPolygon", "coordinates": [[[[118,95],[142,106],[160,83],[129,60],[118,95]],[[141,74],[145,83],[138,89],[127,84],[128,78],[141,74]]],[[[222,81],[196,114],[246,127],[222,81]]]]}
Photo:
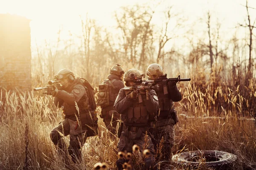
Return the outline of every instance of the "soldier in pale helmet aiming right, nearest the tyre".
{"type": "MultiPolygon", "coordinates": [[[[166,78],[166,75],[163,75],[163,67],[156,63],[148,66],[146,74],[150,80],[157,80],[160,76],[166,78]]],[[[175,135],[174,125],[178,122],[174,102],[181,100],[181,94],[176,82],[159,82],[154,87],[159,99],[160,114],[157,117],[153,134],[158,143],[163,137],[163,150],[160,160],[171,161],[171,148],[174,145],[175,135]]]]}

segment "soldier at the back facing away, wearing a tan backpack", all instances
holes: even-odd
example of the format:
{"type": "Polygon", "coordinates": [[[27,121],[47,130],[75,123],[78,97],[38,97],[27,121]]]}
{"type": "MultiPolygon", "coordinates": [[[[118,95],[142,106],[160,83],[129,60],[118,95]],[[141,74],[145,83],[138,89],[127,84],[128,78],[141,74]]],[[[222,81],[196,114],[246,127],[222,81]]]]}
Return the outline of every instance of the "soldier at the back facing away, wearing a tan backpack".
{"type": "Polygon", "coordinates": [[[103,119],[107,129],[113,134],[116,133],[116,125],[120,119],[120,115],[116,113],[113,106],[119,90],[125,87],[122,81],[124,73],[121,65],[114,65],[110,69],[108,79],[103,80],[101,85],[99,85],[99,93],[97,95],[97,105],[100,105],[102,108],[99,116],[103,119]]]}

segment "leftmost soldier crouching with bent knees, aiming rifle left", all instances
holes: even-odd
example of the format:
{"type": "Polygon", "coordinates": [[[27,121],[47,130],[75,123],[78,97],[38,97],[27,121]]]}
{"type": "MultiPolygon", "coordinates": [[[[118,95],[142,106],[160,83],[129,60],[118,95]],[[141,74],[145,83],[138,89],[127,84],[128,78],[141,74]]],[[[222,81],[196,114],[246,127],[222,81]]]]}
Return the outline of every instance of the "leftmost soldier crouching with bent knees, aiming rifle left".
{"type": "Polygon", "coordinates": [[[50,137],[64,161],[68,159],[68,151],[72,161],[79,163],[82,159],[81,147],[87,137],[98,133],[96,104],[95,106],[92,104],[95,103],[95,99],[91,97],[92,93],[94,95],[93,88],[87,80],[75,78],[69,69],[60,70],[54,78],[60,80],[62,85],[62,90],[58,90],[55,85],[52,85],[52,96],[55,97],[55,105],[59,108],[62,107],[64,120],[54,127],[50,137]],[[63,136],[67,135],[70,136],[70,141],[66,149],[63,136]]]}

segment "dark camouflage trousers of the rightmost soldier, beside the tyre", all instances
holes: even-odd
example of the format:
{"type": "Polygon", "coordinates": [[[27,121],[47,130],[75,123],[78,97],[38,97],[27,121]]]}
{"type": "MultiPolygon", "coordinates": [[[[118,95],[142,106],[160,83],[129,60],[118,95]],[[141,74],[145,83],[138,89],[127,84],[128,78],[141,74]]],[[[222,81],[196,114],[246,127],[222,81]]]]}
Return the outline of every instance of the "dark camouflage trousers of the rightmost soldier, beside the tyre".
{"type": "Polygon", "coordinates": [[[157,159],[160,161],[171,161],[172,159],[172,146],[174,145],[175,136],[174,125],[173,119],[162,119],[155,123],[154,139],[158,144],[163,144],[163,147],[157,148],[157,159]]]}

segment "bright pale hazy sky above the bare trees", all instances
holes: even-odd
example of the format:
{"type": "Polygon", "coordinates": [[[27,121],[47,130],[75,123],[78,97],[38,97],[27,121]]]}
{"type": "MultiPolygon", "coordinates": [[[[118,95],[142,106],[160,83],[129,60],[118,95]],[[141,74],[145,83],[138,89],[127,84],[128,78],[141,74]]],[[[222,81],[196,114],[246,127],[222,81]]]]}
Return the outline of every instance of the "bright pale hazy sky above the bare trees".
{"type": "MultiPolygon", "coordinates": [[[[60,25],[66,31],[80,34],[79,15],[84,17],[88,13],[99,25],[112,27],[115,24],[114,11],[120,6],[148,2],[154,6],[149,0],[0,0],[0,13],[18,14],[31,19],[31,40],[34,46],[35,40],[38,44],[45,39],[56,40],[60,25]]],[[[222,30],[228,33],[246,18],[246,9],[242,6],[245,2],[246,0],[163,0],[163,4],[156,11],[161,11],[167,4],[174,5],[174,10],[182,12],[192,23],[200,17],[206,19],[209,10],[214,16],[213,20],[218,18],[222,30]]],[[[248,3],[256,8],[256,0],[248,0],[248,3]]],[[[256,9],[250,9],[250,14],[255,19],[256,9]]],[[[157,12],[152,22],[161,23],[157,12]]]]}

